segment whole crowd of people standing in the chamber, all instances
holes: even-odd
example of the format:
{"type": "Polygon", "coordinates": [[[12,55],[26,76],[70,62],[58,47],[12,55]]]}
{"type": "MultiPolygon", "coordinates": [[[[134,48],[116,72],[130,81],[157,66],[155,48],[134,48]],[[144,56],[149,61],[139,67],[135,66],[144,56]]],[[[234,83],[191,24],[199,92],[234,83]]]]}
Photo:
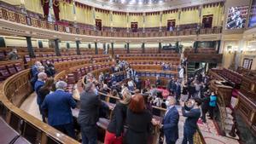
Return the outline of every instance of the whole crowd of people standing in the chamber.
{"type": "MultiPolygon", "coordinates": [[[[55,129],[77,138],[71,111],[77,107],[77,102],[71,93],[66,92],[67,83],[55,82],[52,78],[55,72],[49,70],[54,70],[49,62],[43,66],[36,61],[32,66],[32,85],[42,119],[55,129]]],[[[148,144],[152,141],[153,127],[163,132],[167,144],[176,143],[179,121],[177,105],[181,105],[183,117],[186,117],[183,144],[193,143],[199,118],[206,123],[207,112],[210,118],[214,118],[217,96],[208,90],[209,78],[203,72],[188,78],[185,84],[179,78],[171,78],[163,86],[160,76],[154,82],[149,78],[143,82],[124,60],[117,61],[112,70],[113,73],[125,72],[125,77],[118,79],[115,74],[109,73],[101,73],[98,78],[87,73],[84,77],[77,118],[83,144],[97,143],[96,123],[99,118],[110,118],[105,144],[148,144]],[[114,107],[104,102],[108,96],[108,102],[113,103],[114,107]],[[153,106],[166,108],[166,112],[161,115],[160,110],[153,106]],[[112,110],[111,115],[108,115],[109,110],[112,110]],[[163,119],[154,118],[154,115],[163,119]]]]}

